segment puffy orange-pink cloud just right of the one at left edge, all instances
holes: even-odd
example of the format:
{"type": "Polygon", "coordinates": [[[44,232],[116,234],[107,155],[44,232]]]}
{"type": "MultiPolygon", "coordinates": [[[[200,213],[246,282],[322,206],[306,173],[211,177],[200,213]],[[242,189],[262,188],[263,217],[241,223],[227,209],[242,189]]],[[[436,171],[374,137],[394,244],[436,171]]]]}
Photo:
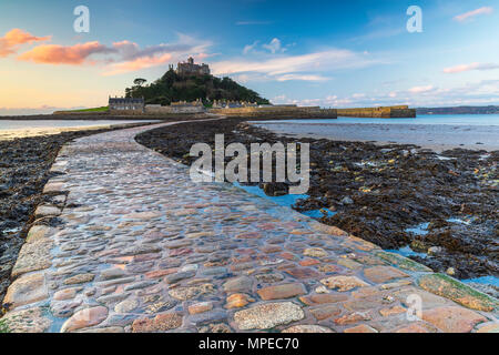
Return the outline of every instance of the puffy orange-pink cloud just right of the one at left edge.
{"type": "Polygon", "coordinates": [[[98,41],[74,45],[42,44],[22,53],[18,59],[43,64],[79,65],[84,63],[92,54],[112,53],[114,51],[114,49],[98,41]]]}

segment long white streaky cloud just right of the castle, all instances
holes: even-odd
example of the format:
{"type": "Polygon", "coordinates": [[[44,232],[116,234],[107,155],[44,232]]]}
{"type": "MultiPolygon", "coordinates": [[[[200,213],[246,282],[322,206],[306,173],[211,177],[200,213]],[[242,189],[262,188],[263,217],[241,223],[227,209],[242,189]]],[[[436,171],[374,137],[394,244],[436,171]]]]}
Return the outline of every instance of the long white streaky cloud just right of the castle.
{"type": "Polygon", "coordinates": [[[322,77],[327,70],[365,68],[378,62],[370,55],[349,50],[330,49],[301,55],[281,54],[277,58],[273,55],[258,60],[233,59],[212,63],[211,67],[216,75],[251,73],[253,75],[265,75],[267,80],[278,80],[278,78],[297,79],[298,75],[286,75],[299,74],[302,80],[317,81],[318,75],[322,77]]]}

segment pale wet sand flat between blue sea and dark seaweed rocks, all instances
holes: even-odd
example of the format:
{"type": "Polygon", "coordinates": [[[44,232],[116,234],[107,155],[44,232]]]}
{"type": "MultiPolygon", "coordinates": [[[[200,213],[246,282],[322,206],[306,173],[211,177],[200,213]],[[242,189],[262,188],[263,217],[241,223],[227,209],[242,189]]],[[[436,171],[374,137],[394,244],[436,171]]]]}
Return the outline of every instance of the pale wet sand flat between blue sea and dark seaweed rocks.
{"type": "Polygon", "coordinates": [[[293,138],[334,141],[416,144],[436,152],[454,148],[499,150],[498,125],[295,123],[258,122],[255,125],[293,138]]]}

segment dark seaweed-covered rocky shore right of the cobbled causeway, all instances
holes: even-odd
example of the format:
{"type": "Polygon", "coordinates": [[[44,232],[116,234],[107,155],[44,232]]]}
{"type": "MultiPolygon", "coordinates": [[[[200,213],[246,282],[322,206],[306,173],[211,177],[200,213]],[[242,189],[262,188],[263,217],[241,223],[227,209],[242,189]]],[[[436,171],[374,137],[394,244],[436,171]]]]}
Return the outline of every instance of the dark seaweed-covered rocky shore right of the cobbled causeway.
{"type": "MultiPolygon", "coordinates": [[[[252,126],[244,119],[184,123],[138,136],[138,142],[191,164],[194,143],[214,146],[298,141],[252,126]]],[[[410,144],[375,145],[301,139],[310,144],[309,197],[294,209],[327,209],[320,222],[394,250],[410,245],[411,258],[458,278],[497,275],[499,151],[454,149],[439,154],[410,144]],[[333,215],[334,214],[334,215],[333,215]]],[[[230,160],[230,159],[227,159],[230,160]]],[[[267,194],[286,184],[262,185],[267,194]]],[[[483,290],[486,291],[486,290],[483,290]]],[[[493,287],[487,290],[497,296],[493,287]]]]}

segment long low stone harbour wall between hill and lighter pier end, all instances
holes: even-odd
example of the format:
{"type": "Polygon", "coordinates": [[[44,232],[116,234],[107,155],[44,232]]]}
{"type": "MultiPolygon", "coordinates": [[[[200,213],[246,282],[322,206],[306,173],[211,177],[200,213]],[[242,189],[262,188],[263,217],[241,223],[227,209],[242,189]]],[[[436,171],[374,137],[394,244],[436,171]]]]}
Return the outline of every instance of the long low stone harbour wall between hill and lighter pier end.
{"type": "Polygon", "coordinates": [[[234,109],[211,109],[210,113],[223,114],[226,116],[288,116],[296,119],[336,119],[336,109],[320,109],[319,106],[265,106],[265,108],[234,108],[234,109]]]}

